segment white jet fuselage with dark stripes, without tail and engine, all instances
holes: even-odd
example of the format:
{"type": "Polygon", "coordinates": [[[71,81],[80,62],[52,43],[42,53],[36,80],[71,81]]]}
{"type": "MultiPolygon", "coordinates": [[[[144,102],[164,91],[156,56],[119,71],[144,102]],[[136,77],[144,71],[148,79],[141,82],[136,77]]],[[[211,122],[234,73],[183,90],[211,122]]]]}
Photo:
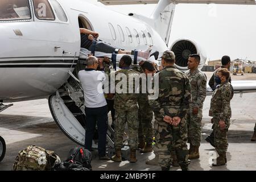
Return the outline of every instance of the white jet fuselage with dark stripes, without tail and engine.
{"type": "Polygon", "coordinates": [[[30,19],[0,20],[0,100],[46,98],[67,82],[68,72],[79,59],[79,18],[86,28],[100,34],[100,40],[119,48],[146,49],[152,44],[153,51],[167,49],[159,34],[141,20],[86,1],[63,0],[59,3],[65,21],[56,13],[53,1],[49,3],[54,20],[39,19],[36,12],[42,5],[34,7],[32,0],[28,0],[30,19]]]}

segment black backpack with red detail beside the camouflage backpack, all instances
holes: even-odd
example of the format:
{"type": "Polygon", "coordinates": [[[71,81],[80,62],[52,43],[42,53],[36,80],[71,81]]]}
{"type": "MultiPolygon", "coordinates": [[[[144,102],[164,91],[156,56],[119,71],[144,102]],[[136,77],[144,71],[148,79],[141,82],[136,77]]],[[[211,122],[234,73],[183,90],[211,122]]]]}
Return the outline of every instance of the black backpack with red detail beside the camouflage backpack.
{"type": "Polygon", "coordinates": [[[92,171],[92,153],[81,147],[72,148],[68,158],[53,168],[54,171],[92,171]]]}

